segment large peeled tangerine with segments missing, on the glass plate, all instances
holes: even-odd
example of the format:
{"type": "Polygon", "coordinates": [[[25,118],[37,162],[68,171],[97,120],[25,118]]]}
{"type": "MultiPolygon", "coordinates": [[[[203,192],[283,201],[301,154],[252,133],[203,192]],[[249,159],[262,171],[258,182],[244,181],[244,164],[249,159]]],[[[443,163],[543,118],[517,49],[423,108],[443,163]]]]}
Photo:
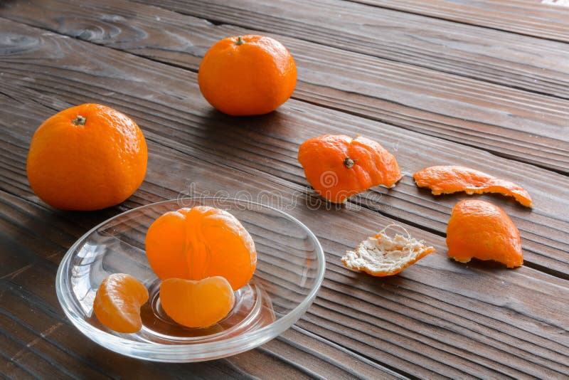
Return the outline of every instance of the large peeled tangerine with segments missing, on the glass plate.
{"type": "Polygon", "coordinates": [[[147,258],[162,280],[202,280],[223,276],[238,290],[252,278],[255,244],[245,227],[227,211],[195,206],[165,213],[151,224],[147,258]]]}

